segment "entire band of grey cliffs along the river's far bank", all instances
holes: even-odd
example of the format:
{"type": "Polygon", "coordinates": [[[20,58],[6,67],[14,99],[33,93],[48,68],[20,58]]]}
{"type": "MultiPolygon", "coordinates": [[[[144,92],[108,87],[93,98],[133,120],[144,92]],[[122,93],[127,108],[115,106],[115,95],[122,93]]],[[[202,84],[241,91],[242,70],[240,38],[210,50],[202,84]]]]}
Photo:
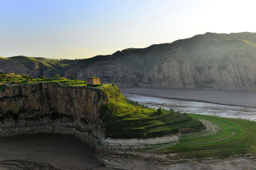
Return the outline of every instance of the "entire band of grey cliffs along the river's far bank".
{"type": "Polygon", "coordinates": [[[209,57],[216,59],[212,63],[193,63],[178,55],[166,55],[146,69],[124,64],[119,57],[112,55],[87,68],[77,69],[75,73],[82,79],[97,75],[102,83],[115,82],[120,87],[256,90],[256,63],[246,55],[241,52],[218,54],[209,57]]]}

